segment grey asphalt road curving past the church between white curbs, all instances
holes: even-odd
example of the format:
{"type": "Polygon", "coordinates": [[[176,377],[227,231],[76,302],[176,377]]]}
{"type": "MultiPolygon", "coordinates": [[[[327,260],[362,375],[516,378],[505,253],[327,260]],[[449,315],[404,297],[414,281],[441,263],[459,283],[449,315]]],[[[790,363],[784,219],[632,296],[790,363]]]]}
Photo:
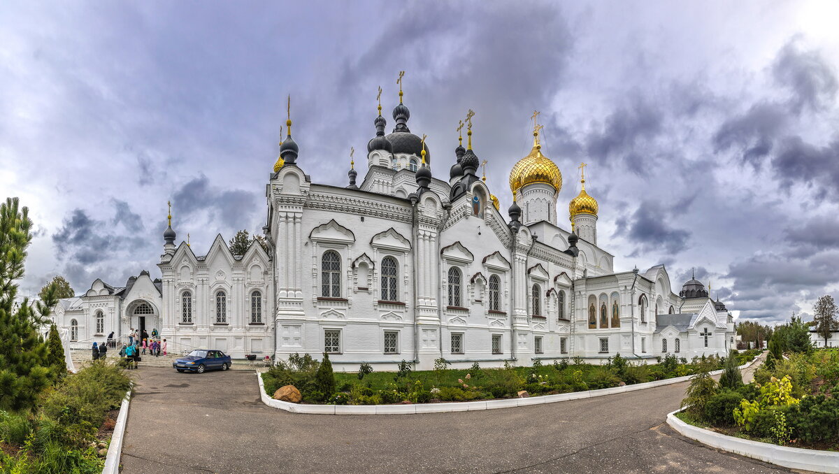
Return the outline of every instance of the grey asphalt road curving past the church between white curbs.
{"type": "Polygon", "coordinates": [[[686,383],[513,409],[335,416],[268,408],[253,372],[134,373],[128,474],[789,472],[664,424],[686,383]]]}

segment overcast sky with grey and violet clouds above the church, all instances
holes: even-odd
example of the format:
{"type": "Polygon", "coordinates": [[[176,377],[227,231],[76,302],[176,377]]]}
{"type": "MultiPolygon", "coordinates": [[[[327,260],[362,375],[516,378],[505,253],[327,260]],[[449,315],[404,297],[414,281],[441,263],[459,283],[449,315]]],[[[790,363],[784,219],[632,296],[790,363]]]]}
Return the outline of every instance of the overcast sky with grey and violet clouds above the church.
{"type": "Polygon", "coordinates": [[[799,0],[4,2],[0,195],[36,230],[23,291],[159,274],[168,200],[198,253],[260,230],[288,94],[300,166],[346,185],[405,70],[436,177],[472,108],[506,209],[539,110],[559,214],[585,161],[616,269],[664,263],[678,291],[695,267],[740,318],[810,313],[839,293],[836,18],[799,0]]]}

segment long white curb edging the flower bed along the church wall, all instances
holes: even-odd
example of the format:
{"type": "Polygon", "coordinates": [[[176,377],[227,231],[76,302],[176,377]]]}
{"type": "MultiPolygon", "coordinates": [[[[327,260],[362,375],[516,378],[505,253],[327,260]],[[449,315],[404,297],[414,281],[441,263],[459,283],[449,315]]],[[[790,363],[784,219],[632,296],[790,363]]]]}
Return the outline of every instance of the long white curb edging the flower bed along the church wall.
{"type": "MultiPolygon", "coordinates": [[[[741,369],[750,367],[760,356],[740,366],[741,369]]],[[[476,402],[447,402],[442,404],[407,404],[407,405],[315,405],[315,404],[292,404],[281,400],[275,400],[265,393],[262,373],[257,373],[259,382],[259,397],[263,404],[275,409],[283,409],[291,413],[305,414],[425,414],[425,413],[448,413],[453,411],[476,411],[484,409],[506,409],[512,407],[524,407],[536,404],[553,404],[580,398],[602,397],[614,393],[633,392],[644,388],[661,387],[671,383],[680,383],[690,380],[692,375],[685,377],[665,378],[654,382],[636,383],[623,387],[601,388],[599,390],[588,390],[584,392],[559,393],[556,395],[542,395],[529,398],[505,398],[503,400],[480,400],[476,402]]],[[[722,370],[715,370],[711,375],[718,375],[722,370]]]]}

